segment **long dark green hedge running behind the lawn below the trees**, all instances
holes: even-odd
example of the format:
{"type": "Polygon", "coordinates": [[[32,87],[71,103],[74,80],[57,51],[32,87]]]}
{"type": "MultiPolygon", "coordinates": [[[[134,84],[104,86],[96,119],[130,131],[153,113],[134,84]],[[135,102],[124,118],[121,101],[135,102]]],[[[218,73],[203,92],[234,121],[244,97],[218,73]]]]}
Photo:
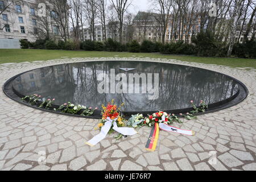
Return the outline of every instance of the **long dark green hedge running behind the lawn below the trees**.
{"type": "MultiPolygon", "coordinates": [[[[160,52],[163,54],[176,55],[198,55],[198,56],[218,56],[225,57],[228,52],[228,45],[225,42],[217,40],[212,32],[200,32],[192,37],[193,44],[178,41],[176,43],[162,44],[159,42],[151,42],[144,40],[139,44],[137,40],[131,43],[121,44],[113,39],[108,39],[106,42],[93,42],[92,40],[85,40],[80,43],[80,48],[85,51],[109,51],[109,52],[160,52]]],[[[21,39],[20,46],[23,49],[64,49],[75,50],[76,45],[71,41],[64,42],[59,40],[38,39],[32,43],[21,39]]],[[[256,41],[247,40],[245,43],[234,44],[232,55],[244,58],[256,57],[256,41]]]]}

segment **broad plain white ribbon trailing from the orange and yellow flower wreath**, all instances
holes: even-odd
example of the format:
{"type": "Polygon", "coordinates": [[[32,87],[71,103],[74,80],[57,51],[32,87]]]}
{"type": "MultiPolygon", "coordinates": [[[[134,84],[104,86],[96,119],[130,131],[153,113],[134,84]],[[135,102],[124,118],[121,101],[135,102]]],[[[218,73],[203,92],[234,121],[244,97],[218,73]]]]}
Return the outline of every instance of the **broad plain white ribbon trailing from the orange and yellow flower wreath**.
{"type": "Polygon", "coordinates": [[[118,133],[125,135],[125,136],[131,136],[137,134],[137,132],[130,127],[118,127],[116,119],[110,119],[109,117],[106,119],[105,125],[101,128],[101,133],[93,137],[89,142],[86,142],[89,146],[95,146],[97,143],[99,143],[101,140],[106,138],[106,135],[109,133],[109,130],[112,127],[113,123],[113,130],[117,131],[118,133]]]}

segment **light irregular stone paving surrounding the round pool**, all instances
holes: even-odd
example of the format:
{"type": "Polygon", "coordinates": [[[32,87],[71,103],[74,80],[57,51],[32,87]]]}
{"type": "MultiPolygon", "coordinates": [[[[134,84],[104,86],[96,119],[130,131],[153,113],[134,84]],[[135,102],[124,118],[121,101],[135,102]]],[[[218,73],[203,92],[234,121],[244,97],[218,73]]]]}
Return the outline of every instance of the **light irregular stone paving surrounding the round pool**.
{"type": "Polygon", "coordinates": [[[97,119],[67,117],[20,105],[0,92],[1,170],[256,170],[256,70],[177,60],[73,58],[0,65],[0,84],[18,73],[47,65],[89,60],[147,60],[192,65],[225,73],[242,81],[249,96],[241,104],[175,126],[196,131],[194,137],[160,131],[155,152],[144,147],[150,129],[116,141],[108,135],[100,144],[85,144],[98,131],[97,119]],[[200,123],[205,123],[205,126],[200,123]],[[217,151],[217,164],[209,152],[217,151]],[[46,155],[44,155],[44,153],[46,155]],[[46,164],[38,159],[46,156],[46,164]]]}

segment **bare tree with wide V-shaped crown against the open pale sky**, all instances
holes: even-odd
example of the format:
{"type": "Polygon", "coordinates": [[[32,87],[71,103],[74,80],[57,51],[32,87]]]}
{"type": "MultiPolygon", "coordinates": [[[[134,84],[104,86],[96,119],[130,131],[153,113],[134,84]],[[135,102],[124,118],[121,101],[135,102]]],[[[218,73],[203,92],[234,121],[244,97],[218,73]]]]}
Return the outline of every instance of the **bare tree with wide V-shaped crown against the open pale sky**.
{"type": "Polygon", "coordinates": [[[119,42],[123,43],[123,16],[125,15],[127,8],[131,5],[132,0],[110,0],[119,20],[119,42]]]}

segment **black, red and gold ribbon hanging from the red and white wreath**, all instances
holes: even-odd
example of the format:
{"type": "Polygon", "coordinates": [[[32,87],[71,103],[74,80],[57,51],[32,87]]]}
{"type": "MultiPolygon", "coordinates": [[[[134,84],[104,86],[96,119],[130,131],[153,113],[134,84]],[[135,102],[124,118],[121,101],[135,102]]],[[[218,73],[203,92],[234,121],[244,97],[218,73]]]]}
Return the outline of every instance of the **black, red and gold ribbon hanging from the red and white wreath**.
{"type": "Polygon", "coordinates": [[[154,152],[156,149],[156,145],[158,144],[159,137],[159,123],[155,122],[155,126],[152,128],[150,136],[148,137],[146,150],[154,152]]]}

